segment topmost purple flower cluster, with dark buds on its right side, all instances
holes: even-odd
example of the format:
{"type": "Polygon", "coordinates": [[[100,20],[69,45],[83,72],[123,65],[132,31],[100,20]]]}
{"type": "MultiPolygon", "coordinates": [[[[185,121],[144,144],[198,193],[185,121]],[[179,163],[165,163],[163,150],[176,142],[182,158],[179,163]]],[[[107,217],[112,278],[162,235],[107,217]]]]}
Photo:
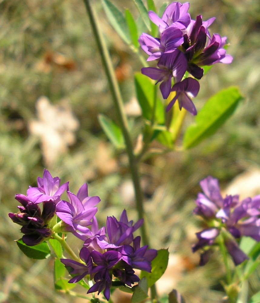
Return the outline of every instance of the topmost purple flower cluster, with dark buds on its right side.
{"type": "Polygon", "coordinates": [[[157,83],[162,82],[160,90],[164,99],[168,98],[170,92],[176,92],[166,111],[170,110],[178,99],[180,109],[183,107],[192,115],[196,115],[192,98],[197,96],[199,91],[196,79],[202,78],[202,67],[218,62],[228,64],[233,58],[227,55],[223,48],[226,37],[220,37],[218,34],[211,37],[208,32],[208,27],[215,18],[202,21],[202,16],[198,15],[196,20],[192,20],[188,9],[189,3],[173,2],[167,6],[162,18],[149,11],[150,20],[159,28],[159,38],[143,33],[138,41],[143,51],[149,55],[147,61],[156,60],[158,66],[144,67],[142,74],[157,83]],[[196,79],[188,77],[182,81],[185,72],[189,72],[196,79]]]}

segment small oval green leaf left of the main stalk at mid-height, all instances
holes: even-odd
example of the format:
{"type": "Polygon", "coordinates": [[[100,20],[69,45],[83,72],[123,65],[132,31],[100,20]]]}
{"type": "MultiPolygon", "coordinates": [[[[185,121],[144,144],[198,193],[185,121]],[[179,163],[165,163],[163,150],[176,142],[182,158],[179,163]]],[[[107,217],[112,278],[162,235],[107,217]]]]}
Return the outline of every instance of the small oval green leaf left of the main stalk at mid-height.
{"type": "Polygon", "coordinates": [[[111,119],[105,115],[98,115],[98,121],[109,140],[116,148],[124,148],[124,137],[121,129],[111,119]]]}

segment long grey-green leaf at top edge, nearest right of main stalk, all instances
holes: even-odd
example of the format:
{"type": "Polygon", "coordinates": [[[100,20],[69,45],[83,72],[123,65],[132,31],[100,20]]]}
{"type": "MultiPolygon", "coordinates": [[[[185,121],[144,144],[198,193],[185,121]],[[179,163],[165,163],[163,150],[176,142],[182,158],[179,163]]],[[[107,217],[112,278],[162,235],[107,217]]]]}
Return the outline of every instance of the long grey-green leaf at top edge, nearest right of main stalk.
{"type": "Polygon", "coordinates": [[[102,4],[110,24],[113,26],[118,35],[127,44],[130,44],[131,40],[128,35],[128,28],[122,12],[120,12],[119,9],[109,0],[102,0],[102,4]]]}

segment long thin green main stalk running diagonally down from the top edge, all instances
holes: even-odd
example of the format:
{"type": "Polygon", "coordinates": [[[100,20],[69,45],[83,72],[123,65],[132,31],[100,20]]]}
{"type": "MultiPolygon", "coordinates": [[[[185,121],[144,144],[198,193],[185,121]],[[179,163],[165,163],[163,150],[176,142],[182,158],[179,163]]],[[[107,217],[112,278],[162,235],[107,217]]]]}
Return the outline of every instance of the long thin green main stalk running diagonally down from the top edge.
{"type": "MultiPolygon", "coordinates": [[[[130,173],[135,188],[135,203],[136,203],[135,205],[136,205],[136,210],[138,212],[138,218],[144,218],[143,193],[140,183],[138,162],[136,161],[134,155],[132,139],[130,137],[130,133],[128,130],[128,121],[124,112],[124,104],[119,90],[118,82],[115,77],[115,71],[112,65],[112,60],[108,53],[108,49],[104,37],[102,35],[102,31],[98,24],[98,18],[95,13],[95,10],[91,7],[90,0],[83,0],[83,1],[89,17],[90,25],[93,31],[93,36],[96,40],[98,51],[101,56],[102,65],[104,67],[105,74],[108,80],[108,85],[115,105],[118,123],[125,139],[125,146],[129,160],[130,173]]],[[[149,238],[145,224],[143,224],[141,227],[141,235],[142,235],[143,243],[149,245],[149,238]]]]}

